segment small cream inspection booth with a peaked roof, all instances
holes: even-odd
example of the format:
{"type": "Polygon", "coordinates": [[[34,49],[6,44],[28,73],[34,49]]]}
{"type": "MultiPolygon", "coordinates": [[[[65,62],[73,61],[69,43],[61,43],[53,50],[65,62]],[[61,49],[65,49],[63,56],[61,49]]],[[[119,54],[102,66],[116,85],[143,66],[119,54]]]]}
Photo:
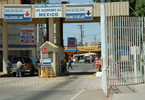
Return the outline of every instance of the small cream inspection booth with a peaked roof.
{"type": "MultiPolygon", "coordinates": [[[[55,45],[52,42],[46,41],[42,46],[40,46],[40,54],[41,59],[51,59],[52,76],[55,77],[61,74],[62,72],[61,61],[64,60],[64,48],[62,46],[55,45]],[[48,52],[44,53],[44,50],[46,48],[48,49],[48,52]]],[[[42,67],[41,67],[41,76],[42,76],[42,67]]]]}

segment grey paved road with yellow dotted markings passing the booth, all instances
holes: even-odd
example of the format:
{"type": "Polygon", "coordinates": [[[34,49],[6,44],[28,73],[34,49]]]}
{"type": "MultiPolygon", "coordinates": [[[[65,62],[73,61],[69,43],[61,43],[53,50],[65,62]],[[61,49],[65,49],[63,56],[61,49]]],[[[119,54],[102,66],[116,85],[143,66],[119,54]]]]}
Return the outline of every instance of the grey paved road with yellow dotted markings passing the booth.
{"type": "Polygon", "coordinates": [[[92,64],[73,64],[70,73],[56,78],[0,78],[0,100],[106,100],[101,78],[92,64]]]}

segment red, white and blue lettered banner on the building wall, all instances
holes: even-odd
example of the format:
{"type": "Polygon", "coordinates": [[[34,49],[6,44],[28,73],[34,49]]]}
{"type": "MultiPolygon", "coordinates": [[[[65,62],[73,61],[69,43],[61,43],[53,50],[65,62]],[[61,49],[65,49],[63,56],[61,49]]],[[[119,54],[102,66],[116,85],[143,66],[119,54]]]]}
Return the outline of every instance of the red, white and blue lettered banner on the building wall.
{"type": "Polygon", "coordinates": [[[34,44],[34,28],[21,28],[21,44],[34,44]]]}

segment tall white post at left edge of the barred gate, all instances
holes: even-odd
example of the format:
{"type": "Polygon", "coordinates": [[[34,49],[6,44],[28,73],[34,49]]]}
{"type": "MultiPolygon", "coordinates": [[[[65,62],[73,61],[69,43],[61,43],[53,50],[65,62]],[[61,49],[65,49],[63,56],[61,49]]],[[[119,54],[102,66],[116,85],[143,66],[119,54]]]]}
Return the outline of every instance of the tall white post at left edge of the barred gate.
{"type": "Polygon", "coordinates": [[[105,5],[101,5],[101,55],[102,55],[102,89],[106,96],[107,87],[107,33],[106,33],[106,11],[105,5]]]}

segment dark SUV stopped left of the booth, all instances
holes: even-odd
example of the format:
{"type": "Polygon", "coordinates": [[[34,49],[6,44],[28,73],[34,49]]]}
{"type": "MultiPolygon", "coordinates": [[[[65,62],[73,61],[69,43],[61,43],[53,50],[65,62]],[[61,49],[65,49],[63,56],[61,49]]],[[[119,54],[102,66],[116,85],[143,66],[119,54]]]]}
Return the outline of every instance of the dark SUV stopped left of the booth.
{"type": "Polygon", "coordinates": [[[12,66],[11,66],[13,76],[16,76],[17,62],[19,59],[21,59],[22,64],[25,63],[25,66],[21,67],[22,76],[24,75],[24,73],[30,73],[31,75],[34,75],[35,72],[38,72],[40,62],[35,57],[30,57],[30,56],[16,57],[12,61],[12,66]]]}

